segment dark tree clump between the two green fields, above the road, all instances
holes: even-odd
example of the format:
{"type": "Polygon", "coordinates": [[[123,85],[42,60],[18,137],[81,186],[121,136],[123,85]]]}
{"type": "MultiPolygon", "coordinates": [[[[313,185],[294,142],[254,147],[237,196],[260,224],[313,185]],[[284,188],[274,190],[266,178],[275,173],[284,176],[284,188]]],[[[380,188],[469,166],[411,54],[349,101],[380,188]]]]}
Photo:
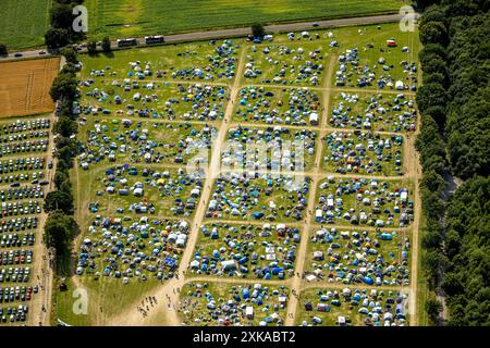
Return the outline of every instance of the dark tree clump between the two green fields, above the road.
{"type": "Polygon", "coordinates": [[[64,47],[84,38],[85,33],[73,30],[76,14],[73,8],[84,0],[53,0],[49,14],[50,28],[45,34],[46,46],[50,49],[64,47]]]}

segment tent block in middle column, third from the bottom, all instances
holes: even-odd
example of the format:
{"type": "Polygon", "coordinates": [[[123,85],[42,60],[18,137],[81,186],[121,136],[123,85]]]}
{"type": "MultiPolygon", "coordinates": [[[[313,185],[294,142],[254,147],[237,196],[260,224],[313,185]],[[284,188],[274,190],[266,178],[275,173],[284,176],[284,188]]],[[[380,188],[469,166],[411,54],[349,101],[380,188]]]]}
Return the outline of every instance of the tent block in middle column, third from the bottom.
{"type": "Polygon", "coordinates": [[[206,217],[302,220],[308,186],[307,178],[292,175],[258,172],[221,174],[215,183],[206,217]]]}

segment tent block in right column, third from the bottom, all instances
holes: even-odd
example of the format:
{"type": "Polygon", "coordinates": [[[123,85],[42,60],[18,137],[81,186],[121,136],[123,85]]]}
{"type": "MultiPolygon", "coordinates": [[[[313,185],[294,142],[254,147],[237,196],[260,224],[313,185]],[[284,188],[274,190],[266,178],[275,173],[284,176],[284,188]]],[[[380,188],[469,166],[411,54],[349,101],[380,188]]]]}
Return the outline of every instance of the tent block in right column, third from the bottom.
{"type": "Polygon", "coordinates": [[[408,199],[408,189],[399,185],[376,178],[330,176],[318,187],[315,219],[318,223],[407,226],[413,220],[414,202],[408,199]]]}

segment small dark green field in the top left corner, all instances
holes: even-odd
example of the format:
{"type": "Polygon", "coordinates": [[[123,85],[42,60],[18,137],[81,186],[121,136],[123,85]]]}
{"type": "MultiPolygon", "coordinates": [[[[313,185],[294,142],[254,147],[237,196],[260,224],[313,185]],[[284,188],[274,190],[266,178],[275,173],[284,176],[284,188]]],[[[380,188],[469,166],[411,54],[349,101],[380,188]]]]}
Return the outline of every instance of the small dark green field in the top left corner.
{"type": "Polygon", "coordinates": [[[9,50],[41,46],[51,0],[2,0],[0,42],[9,50]]]}

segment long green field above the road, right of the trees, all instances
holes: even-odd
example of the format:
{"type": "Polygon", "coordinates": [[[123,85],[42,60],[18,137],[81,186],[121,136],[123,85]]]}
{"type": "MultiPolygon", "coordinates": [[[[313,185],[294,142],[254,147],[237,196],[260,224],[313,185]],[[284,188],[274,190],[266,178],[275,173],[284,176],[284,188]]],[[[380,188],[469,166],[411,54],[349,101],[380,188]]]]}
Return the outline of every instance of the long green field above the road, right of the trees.
{"type": "Polygon", "coordinates": [[[113,38],[213,27],[395,13],[401,0],[86,0],[89,36],[113,38]]]}

